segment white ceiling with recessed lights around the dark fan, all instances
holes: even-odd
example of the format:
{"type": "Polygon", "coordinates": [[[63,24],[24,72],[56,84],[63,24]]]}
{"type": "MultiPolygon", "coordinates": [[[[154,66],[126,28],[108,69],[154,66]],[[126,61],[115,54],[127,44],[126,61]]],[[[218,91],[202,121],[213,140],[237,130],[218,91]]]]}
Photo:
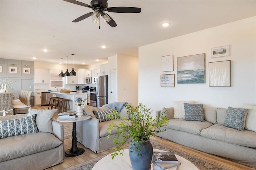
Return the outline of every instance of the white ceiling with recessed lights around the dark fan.
{"type": "MultiPolygon", "coordinates": [[[[90,0],[78,0],[90,4],[90,0]]],[[[90,8],[62,0],[0,0],[0,57],[93,64],[116,53],[138,56],[138,47],[256,16],[255,0],[108,0],[108,7],[142,8],[141,13],[108,13],[112,28],[92,18],[74,19],[90,8]],[[170,26],[163,28],[163,22],[170,26]],[[106,45],[106,49],[101,46],[106,45]],[[48,52],[42,50],[46,48],[48,52]]],[[[246,31],[246,30],[245,30],[246,31]]],[[[209,40],[210,41],[210,40],[209,40]]],[[[157,49],[156,49],[157,50],[157,49]]]]}

